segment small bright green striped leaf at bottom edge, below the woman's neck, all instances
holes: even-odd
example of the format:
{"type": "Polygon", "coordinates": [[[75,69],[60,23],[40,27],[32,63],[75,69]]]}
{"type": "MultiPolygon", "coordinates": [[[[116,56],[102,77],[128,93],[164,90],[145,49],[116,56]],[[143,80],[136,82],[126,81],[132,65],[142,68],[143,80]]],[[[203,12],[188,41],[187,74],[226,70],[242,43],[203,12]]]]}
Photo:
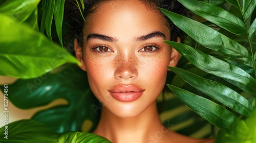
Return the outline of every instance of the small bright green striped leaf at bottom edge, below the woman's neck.
{"type": "Polygon", "coordinates": [[[70,142],[70,143],[111,143],[108,139],[92,134],[92,133],[83,133],[83,132],[67,132],[62,133],[58,138],[58,142],[70,142]]]}

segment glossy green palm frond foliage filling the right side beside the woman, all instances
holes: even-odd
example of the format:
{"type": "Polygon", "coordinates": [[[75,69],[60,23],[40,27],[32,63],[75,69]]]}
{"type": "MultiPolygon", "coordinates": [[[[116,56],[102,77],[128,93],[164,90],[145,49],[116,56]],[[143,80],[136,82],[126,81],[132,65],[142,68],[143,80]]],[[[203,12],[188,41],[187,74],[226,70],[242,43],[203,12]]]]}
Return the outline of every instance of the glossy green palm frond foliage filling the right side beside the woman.
{"type": "MultiPolygon", "coordinates": [[[[255,46],[255,43],[253,44],[255,20],[250,22],[246,19],[251,16],[252,11],[255,9],[256,1],[243,1],[243,8],[241,8],[239,1],[227,1],[240,10],[241,17],[237,16],[239,14],[230,13],[232,11],[231,8],[230,11],[226,11],[215,5],[196,0],[178,1],[190,11],[212,22],[211,25],[218,27],[218,29],[212,29],[193,19],[159,8],[189,38],[198,42],[196,44],[198,49],[177,42],[165,42],[174,47],[191,64],[206,73],[218,76],[237,86],[250,94],[252,101],[254,101],[254,97],[256,97],[256,80],[253,78],[256,76],[255,49],[253,49],[253,45],[255,46]],[[239,36],[236,35],[239,34],[244,34],[243,36],[246,36],[246,38],[244,39],[242,36],[237,38],[239,36]],[[245,43],[249,47],[244,46],[246,45],[245,43]],[[205,48],[212,51],[206,53],[209,50],[203,51],[205,48]]],[[[193,42],[193,40],[190,39],[189,43],[193,42]]],[[[184,104],[210,123],[222,129],[217,135],[216,142],[255,142],[256,114],[255,112],[252,113],[253,105],[247,99],[223,84],[221,80],[219,82],[208,80],[200,75],[176,67],[169,67],[169,69],[198,91],[214,99],[210,99],[214,101],[212,102],[206,99],[205,96],[197,95],[200,92],[195,94],[176,86],[168,85],[184,104]],[[223,106],[229,108],[226,109],[223,106]],[[239,120],[237,115],[242,118],[248,118],[245,121],[239,120]]]]}

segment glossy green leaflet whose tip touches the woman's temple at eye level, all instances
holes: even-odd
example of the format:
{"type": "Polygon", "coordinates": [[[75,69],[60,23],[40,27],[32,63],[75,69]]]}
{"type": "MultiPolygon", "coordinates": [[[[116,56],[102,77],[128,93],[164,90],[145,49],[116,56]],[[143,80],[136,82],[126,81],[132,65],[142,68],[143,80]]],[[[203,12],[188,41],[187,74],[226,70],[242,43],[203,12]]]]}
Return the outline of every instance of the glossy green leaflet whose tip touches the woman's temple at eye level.
{"type": "Polygon", "coordinates": [[[188,61],[190,61],[201,70],[204,70],[209,74],[222,77],[225,80],[229,79],[230,81],[236,81],[237,83],[229,82],[238,86],[240,89],[251,94],[252,96],[256,96],[256,81],[243,69],[217,59],[213,56],[206,55],[203,52],[188,45],[172,41],[164,42],[174,47],[174,49],[176,49],[182,56],[187,58],[188,61]]]}

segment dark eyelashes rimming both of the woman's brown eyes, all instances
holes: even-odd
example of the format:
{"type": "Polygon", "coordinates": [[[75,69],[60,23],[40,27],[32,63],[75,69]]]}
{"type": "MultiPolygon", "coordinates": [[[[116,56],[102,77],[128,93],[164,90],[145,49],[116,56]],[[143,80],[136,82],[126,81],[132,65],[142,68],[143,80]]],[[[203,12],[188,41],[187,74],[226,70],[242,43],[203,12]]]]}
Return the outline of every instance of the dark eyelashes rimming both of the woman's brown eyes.
{"type": "MultiPolygon", "coordinates": [[[[93,50],[93,52],[96,52],[96,53],[100,53],[100,54],[106,54],[107,53],[107,51],[106,52],[101,52],[99,50],[96,50],[98,47],[106,47],[109,50],[111,50],[108,45],[103,45],[103,44],[94,45],[94,46],[91,47],[91,49],[93,50]]],[[[144,44],[142,46],[142,48],[138,52],[153,53],[153,52],[157,52],[159,49],[160,49],[160,46],[158,44],[156,44],[156,43],[147,43],[147,44],[144,44]],[[152,51],[141,51],[141,50],[144,49],[144,47],[147,47],[147,46],[153,46],[153,47],[155,47],[155,50],[152,50],[152,51]]]]}

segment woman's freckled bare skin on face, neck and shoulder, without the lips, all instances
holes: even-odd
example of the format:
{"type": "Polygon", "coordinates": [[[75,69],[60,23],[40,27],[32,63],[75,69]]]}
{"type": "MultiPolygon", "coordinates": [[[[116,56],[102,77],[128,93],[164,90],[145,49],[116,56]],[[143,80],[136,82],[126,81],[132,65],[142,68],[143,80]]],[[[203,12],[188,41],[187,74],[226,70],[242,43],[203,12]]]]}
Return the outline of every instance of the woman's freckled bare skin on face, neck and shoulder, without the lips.
{"type": "Polygon", "coordinates": [[[176,66],[179,59],[179,53],[163,42],[169,39],[161,12],[139,1],[104,2],[89,15],[83,45],[76,39],[75,51],[103,105],[93,133],[112,142],[213,141],[177,134],[160,121],[156,99],[164,87],[167,66],[176,66]],[[117,85],[134,85],[144,91],[135,101],[121,102],[109,91],[117,85]]]}

